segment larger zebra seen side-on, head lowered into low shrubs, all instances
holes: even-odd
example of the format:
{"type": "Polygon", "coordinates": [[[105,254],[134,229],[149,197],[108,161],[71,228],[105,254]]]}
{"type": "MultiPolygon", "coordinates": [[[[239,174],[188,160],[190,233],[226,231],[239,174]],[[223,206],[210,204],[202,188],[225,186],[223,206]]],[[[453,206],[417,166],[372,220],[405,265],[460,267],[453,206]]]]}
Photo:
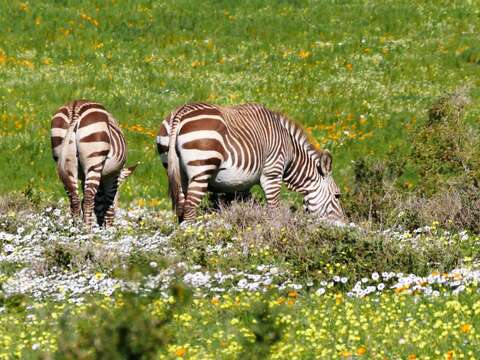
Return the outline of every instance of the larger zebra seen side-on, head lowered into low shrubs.
{"type": "Polygon", "coordinates": [[[282,180],[304,195],[308,211],[343,222],[330,153],[316,150],[297,124],[262,105],[184,105],[163,121],[157,148],[180,222],[195,218],[207,190],[245,191],[259,183],[275,207],[282,180]]]}

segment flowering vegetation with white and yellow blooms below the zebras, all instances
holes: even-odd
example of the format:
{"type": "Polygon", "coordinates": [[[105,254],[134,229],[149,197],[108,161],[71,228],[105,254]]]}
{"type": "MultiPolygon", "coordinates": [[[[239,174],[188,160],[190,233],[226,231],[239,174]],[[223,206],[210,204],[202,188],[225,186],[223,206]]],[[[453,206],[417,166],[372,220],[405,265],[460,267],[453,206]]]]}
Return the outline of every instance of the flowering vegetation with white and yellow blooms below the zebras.
{"type": "Polygon", "coordinates": [[[88,235],[63,203],[6,211],[0,244],[3,358],[479,355],[480,238],[438,222],[373,232],[234,203],[183,227],[132,208],[88,235]]]}

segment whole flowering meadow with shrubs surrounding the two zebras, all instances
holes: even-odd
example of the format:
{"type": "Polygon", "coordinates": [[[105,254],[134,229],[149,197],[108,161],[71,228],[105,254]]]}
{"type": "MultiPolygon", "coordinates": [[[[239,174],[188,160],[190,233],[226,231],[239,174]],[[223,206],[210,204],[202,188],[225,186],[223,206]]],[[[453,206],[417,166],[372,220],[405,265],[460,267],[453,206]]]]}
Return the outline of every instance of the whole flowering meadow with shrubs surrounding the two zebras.
{"type": "Polygon", "coordinates": [[[0,3],[0,358],[479,358],[479,27],[477,0],[0,3]],[[113,230],[55,173],[76,98],[140,162],[113,230]],[[155,137],[192,101],[302,124],[361,227],[287,191],[179,227],[155,137]]]}

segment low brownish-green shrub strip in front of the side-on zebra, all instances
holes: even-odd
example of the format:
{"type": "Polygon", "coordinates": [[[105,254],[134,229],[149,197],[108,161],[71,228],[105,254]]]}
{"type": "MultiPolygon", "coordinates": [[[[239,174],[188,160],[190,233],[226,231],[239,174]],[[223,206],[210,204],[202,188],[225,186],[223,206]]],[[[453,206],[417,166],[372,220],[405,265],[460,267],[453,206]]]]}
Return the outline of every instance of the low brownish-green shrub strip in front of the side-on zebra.
{"type": "MultiPolygon", "coordinates": [[[[397,222],[407,221],[405,213],[400,215],[397,222]]],[[[286,204],[268,209],[255,203],[233,203],[215,219],[195,232],[179,229],[172,239],[180,251],[188,249],[190,261],[212,272],[275,264],[301,281],[333,275],[358,280],[369,276],[372,269],[419,275],[447,271],[463,257],[475,257],[472,243],[446,243],[441,234],[403,238],[404,231],[383,234],[332,227],[311,214],[292,212],[286,204]],[[225,230],[227,224],[230,228],[225,230]],[[215,235],[222,231],[222,236],[215,235]],[[226,252],[220,256],[209,253],[218,245],[227,248],[226,252]]]]}

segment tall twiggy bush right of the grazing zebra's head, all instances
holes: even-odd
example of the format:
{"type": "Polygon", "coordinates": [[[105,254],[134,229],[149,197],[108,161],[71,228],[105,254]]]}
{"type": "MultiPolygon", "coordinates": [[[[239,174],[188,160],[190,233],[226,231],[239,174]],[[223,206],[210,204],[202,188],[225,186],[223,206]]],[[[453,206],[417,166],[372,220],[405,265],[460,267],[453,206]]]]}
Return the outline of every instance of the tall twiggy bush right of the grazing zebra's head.
{"type": "Polygon", "coordinates": [[[440,97],[428,120],[410,133],[409,154],[394,150],[386,160],[355,161],[353,190],[344,200],[347,215],[380,227],[414,229],[438,221],[479,232],[480,136],[463,120],[469,103],[469,87],[459,87],[440,97]],[[407,169],[418,178],[413,189],[398,183],[407,169]]]}

